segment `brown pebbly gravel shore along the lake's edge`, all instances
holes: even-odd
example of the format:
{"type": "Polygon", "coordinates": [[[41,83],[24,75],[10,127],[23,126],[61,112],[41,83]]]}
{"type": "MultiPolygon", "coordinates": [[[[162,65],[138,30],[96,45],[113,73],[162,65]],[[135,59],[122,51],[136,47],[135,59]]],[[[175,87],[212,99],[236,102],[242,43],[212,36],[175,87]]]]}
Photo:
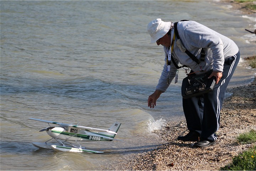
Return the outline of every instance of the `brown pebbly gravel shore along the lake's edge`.
{"type": "MultiPolygon", "coordinates": [[[[244,7],[250,1],[220,3],[232,5],[232,10],[243,14],[255,13],[244,7]]],[[[216,145],[196,148],[192,141],[178,141],[179,135],[188,133],[186,121],[168,122],[164,128],[154,132],[165,144],[122,162],[117,170],[220,170],[220,167],[231,164],[234,156],[256,145],[239,144],[236,140],[241,133],[256,130],[256,76],[250,84],[231,87],[226,92],[232,95],[223,102],[216,145]]]]}

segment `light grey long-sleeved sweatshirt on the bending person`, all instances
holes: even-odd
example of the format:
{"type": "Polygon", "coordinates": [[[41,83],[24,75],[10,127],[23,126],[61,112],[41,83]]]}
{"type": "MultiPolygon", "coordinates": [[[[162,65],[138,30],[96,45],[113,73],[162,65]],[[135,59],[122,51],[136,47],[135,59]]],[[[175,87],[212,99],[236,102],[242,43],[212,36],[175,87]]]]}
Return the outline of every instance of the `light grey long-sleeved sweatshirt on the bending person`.
{"type": "MultiPolygon", "coordinates": [[[[183,46],[195,55],[197,59],[200,59],[201,48],[206,48],[205,65],[202,67],[204,71],[213,69],[213,71],[223,72],[224,59],[237,54],[239,51],[234,41],[195,21],[178,22],[177,30],[183,46]]],[[[194,72],[199,71],[200,66],[185,52],[180,50],[176,41],[177,37],[175,38],[174,49],[172,51],[172,57],[176,64],[187,65],[194,72]]],[[[166,91],[176,75],[176,67],[171,62],[170,81],[169,84],[166,84],[168,73],[166,65],[167,53],[165,49],[164,47],[165,65],[158,85],[156,86],[156,90],[162,92],[166,91]]],[[[201,73],[198,72],[196,74],[201,73]]]]}

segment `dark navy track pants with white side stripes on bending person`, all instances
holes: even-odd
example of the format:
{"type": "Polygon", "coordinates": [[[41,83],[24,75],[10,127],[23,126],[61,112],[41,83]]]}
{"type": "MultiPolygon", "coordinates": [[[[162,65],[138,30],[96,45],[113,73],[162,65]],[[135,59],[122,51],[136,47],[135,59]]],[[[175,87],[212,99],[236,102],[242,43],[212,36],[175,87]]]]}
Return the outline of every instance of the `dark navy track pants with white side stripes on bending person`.
{"type": "Polygon", "coordinates": [[[182,99],[183,111],[188,130],[196,131],[201,140],[217,140],[215,132],[219,129],[220,110],[229,81],[238,65],[240,52],[225,59],[222,78],[211,92],[199,97],[182,99]]]}

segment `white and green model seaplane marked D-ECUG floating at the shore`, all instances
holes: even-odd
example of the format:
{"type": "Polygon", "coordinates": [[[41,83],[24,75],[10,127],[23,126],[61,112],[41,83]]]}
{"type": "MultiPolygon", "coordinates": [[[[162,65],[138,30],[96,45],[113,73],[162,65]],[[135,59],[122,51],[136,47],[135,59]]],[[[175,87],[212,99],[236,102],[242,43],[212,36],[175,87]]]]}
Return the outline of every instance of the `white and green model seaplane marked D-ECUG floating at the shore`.
{"type": "Polygon", "coordinates": [[[119,122],[114,122],[108,129],[98,129],[91,127],[84,127],[80,125],[65,124],[53,121],[45,121],[42,119],[28,118],[34,121],[46,122],[49,127],[46,127],[39,132],[46,131],[51,139],[44,143],[33,142],[32,144],[39,149],[53,149],[54,151],[71,151],[71,152],[87,152],[87,153],[104,153],[103,151],[88,150],[82,147],[78,141],[122,141],[114,139],[117,131],[121,125],[119,122]],[[53,127],[50,125],[57,124],[58,126],[53,127]],[[59,145],[48,143],[50,140],[56,140],[59,145]],[[78,146],[70,143],[69,141],[75,141],[78,146]]]}

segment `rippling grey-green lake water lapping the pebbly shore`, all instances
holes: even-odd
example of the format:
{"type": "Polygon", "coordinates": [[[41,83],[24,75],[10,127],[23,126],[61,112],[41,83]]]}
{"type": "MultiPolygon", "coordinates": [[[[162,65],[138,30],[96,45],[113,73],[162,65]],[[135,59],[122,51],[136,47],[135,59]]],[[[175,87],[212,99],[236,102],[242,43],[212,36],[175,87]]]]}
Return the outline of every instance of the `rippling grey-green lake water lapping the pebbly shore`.
{"type": "MultiPolygon", "coordinates": [[[[164,64],[147,24],[194,20],[233,39],[241,58],[255,55],[256,15],[219,1],[1,1],[1,170],[113,170],[119,162],[163,142],[152,133],[184,120],[181,81],[154,109],[147,106],[164,64]],[[122,125],[123,142],[84,143],[104,154],[38,150],[50,137],[46,123],[108,129],[122,125]]],[[[256,71],[240,60],[231,86],[248,84],[256,71]]]]}

